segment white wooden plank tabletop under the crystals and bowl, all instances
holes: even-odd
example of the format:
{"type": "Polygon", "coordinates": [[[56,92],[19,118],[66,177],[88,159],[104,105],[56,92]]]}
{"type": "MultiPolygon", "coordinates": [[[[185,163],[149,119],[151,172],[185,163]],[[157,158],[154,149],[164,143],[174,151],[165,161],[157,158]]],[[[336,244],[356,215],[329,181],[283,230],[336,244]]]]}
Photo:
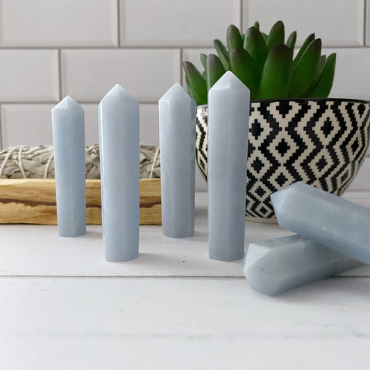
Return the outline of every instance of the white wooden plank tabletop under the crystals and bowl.
{"type": "MultiPolygon", "coordinates": [[[[345,195],[370,207],[370,194],[345,195]]],[[[269,297],[241,261],[208,259],[207,199],[188,239],[140,226],[140,255],[103,260],[101,226],[1,225],[0,369],[370,369],[370,267],[269,297]]],[[[246,223],[246,246],[289,235],[246,223]]]]}

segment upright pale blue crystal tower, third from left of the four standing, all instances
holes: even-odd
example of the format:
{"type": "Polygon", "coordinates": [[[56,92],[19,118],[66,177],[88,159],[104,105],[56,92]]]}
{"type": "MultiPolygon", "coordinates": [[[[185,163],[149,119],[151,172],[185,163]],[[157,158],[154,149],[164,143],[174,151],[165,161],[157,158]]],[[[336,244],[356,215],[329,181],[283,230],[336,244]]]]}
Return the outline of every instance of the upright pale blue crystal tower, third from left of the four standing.
{"type": "Polygon", "coordinates": [[[162,231],[167,237],[194,234],[195,101],[175,83],[160,98],[162,231]]]}

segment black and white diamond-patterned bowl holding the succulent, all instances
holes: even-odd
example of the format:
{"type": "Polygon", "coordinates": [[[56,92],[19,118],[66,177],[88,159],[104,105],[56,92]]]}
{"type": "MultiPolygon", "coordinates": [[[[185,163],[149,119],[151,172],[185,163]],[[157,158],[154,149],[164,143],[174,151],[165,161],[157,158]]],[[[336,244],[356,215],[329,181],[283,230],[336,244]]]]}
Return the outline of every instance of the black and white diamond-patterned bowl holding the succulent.
{"type": "MultiPolygon", "coordinates": [[[[196,162],[205,178],[207,117],[208,106],[198,106],[196,162]]],[[[246,218],[276,222],[270,194],[296,181],[342,195],[355,178],[366,155],[369,127],[369,101],[252,101],[246,218]]]]}

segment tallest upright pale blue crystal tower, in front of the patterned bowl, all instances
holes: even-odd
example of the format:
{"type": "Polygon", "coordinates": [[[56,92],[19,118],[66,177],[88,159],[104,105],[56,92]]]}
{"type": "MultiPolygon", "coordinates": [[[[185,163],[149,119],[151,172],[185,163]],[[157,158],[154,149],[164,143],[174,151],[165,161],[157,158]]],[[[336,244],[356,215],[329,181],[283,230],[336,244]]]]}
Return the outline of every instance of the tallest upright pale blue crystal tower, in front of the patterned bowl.
{"type": "Polygon", "coordinates": [[[249,96],[230,71],[208,92],[208,243],[214,260],[244,255],[249,96]]]}

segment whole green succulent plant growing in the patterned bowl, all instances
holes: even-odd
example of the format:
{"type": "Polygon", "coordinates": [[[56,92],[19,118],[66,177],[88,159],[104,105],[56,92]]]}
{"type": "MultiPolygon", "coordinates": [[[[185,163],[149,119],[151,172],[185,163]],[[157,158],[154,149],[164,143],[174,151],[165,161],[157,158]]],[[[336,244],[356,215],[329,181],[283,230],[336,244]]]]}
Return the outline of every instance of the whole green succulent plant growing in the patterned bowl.
{"type": "Polygon", "coordinates": [[[269,35],[255,22],[244,35],[228,26],[227,48],[220,40],[213,44],[217,55],[201,54],[203,74],[191,62],[183,62],[187,91],[197,105],[207,103],[208,90],[231,71],[251,92],[251,99],[325,98],[333,86],[336,54],[321,56],[321,39],[314,33],[303,42],[294,57],[296,31],[285,42],[281,21],[269,35]]]}

